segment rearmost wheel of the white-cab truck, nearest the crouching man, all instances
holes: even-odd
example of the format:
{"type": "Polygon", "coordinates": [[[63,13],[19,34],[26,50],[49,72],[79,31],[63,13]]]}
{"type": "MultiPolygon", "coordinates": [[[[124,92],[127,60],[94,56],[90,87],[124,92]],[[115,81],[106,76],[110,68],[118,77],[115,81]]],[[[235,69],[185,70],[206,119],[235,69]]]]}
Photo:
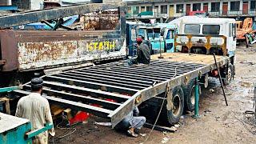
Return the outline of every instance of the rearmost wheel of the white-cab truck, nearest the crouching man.
{"type": "Polygon", "coordinates": [[[179,121],[183,113],[184,94],[182,88],[180,86],[175,87],[172,95],[173,108],[172,110],[167,110],[167,118],[168,122],[174,125],[179,121]]]}

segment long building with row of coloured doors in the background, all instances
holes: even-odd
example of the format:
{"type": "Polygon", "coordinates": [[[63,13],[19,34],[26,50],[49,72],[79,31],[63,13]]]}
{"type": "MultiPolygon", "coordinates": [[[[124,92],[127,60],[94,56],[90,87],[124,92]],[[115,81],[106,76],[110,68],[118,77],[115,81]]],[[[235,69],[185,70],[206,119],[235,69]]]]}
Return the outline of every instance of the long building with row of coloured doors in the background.
{"type": "Polygon", "coordinates": [[[190,11],[205,11],[210,17],[255,17],[256,0],[148,0],[127,1],[128,15],[152,11],[153,17],[180,17],[190,11]]]}

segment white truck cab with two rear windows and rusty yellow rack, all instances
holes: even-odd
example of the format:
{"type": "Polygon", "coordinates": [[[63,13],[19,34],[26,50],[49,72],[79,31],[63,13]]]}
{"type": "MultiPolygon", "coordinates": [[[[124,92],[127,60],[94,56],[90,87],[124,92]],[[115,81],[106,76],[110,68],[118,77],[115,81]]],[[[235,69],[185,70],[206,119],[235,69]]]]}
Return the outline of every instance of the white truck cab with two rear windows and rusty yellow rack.
{"type": "Polygon", "coordinates": [[[233,18],[185,16],[170,23],[178,26],[177,50],[234,57],[236,23],[233,18]]]}

